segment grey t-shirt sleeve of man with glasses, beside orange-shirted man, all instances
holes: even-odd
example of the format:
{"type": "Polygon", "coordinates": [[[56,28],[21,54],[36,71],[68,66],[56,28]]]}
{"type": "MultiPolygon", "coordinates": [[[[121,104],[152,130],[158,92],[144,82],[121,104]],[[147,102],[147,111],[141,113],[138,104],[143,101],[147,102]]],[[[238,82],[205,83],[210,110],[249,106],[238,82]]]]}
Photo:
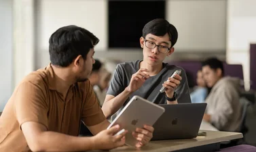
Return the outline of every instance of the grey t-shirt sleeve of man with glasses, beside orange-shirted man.
{"type": "Polygon", "coordinates": [[[120,64],[117,64],[117,67],[115,68],[114,74],[111,78],[109,88],[107,90],[107,95],[117,96],[122,93],[122,91],[124,91],[126,86],[123,84],[123,76],[124,70],[120,64]]]}

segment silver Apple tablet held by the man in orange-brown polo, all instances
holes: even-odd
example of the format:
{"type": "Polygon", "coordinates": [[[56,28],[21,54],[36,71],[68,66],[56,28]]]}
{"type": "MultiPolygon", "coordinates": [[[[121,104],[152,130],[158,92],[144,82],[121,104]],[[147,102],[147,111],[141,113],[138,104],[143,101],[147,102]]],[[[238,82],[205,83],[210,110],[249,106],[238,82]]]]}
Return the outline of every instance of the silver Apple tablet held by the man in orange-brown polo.
{"type": "Polygon", "coordinates": [[[136,128],[143,128],[145,124],[153,126],[162,113],[164,113],[164,107],[151,103],[142,97],[134,96],[107,129],[115,126],[115,124],[119,124],[121,129],[128,130],[126,145],[135,146],[136,139],[132,136],[132,132],[136,128]]]}

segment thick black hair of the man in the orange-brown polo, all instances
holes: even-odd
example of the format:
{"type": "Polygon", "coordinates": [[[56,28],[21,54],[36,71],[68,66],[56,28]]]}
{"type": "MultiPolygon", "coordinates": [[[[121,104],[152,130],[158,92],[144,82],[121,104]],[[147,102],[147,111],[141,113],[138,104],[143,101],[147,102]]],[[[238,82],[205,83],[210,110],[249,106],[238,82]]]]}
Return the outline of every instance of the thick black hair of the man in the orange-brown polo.
{"type": "Polygon", "coordinates": [[[84,28],[74,25],[59,28],[49,40],[50,61],[53,65],[67,67],[78,55],[86,59],[98,41],[94,34],[84,28]]]}

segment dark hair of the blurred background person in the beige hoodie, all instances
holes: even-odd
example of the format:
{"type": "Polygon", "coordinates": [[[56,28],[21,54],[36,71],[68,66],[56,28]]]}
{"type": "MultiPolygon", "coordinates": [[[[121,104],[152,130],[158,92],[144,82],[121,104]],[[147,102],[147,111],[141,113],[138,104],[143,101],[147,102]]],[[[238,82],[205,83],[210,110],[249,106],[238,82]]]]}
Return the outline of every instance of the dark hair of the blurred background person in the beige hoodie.
{"type": "Polygon", "coordinates": [[[203,66],[209,66],[213,70],[217,70],[218,68],[220,68],[222,76],[224,75],[223,63],[216,57],[211,57],[206,59],[205,61],[202,61],[202,67],[203,66]]]}

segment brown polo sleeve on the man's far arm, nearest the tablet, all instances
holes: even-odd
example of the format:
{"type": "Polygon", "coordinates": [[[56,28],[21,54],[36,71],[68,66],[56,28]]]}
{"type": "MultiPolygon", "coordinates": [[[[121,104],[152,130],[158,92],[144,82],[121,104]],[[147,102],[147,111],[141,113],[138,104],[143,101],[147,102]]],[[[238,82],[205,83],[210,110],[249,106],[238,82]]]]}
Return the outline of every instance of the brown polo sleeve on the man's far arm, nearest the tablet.
{"type": "Polygon", "coordinates": [[[96,124],[100,124],[106,120],[103,111],[98,104],[98,99],[92,89],[92,85],[90,81],[86,81],[84,90],[84,107],[81,114],[81,120],[84,122],[86,126],[94,126],[96,124]]]}

